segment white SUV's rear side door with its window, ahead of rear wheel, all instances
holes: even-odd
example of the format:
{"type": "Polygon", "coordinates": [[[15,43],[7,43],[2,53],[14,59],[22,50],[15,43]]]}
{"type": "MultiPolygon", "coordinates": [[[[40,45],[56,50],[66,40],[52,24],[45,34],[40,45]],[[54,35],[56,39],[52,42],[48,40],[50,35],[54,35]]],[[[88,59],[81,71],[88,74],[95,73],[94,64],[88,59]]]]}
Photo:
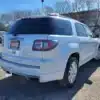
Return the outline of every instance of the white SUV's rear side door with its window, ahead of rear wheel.
{"type": "Polygon", "coordinates": [[[93,45],[91,38],[87,34],[86,29],[84,28],[84,24],[75,23],[76,33],[79,38],[79,46],[80,46],[80,60],[81,63],[84,64],[88,60],[91,59],[91,55],[93,53],[93,45]]]}

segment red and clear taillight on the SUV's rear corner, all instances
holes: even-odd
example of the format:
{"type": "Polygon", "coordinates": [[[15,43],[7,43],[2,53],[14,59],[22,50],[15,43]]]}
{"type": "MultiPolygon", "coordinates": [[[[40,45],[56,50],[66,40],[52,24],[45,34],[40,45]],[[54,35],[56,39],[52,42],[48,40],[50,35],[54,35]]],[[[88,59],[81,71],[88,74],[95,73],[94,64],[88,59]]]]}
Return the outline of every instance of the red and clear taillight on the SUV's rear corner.
{"type": "Polygon", "coordinates": [[[35,51],[48,51],[52,50],[57,46],[56,40],[35,40],[32,50],[35,51]]]}

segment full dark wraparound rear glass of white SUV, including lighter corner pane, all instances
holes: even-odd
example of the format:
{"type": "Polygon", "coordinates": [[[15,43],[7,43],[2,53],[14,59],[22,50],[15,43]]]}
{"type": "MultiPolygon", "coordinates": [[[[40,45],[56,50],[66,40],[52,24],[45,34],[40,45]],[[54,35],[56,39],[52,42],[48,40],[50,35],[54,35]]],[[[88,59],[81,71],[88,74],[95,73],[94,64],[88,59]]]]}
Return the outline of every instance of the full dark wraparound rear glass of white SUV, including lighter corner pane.
{"type": "Polygon", "coordinates": [[[17,21],[10,34],[62,34],[71,35],[71,23],[57,18],[33,18],[17,21]]]}

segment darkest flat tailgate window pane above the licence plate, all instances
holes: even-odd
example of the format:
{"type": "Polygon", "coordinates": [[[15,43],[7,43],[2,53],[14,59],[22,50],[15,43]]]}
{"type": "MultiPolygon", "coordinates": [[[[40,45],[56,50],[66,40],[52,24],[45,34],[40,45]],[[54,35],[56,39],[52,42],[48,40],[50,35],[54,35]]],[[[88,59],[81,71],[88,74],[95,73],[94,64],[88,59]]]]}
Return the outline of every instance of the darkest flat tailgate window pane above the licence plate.
{"type": "Polygon", "coordinates": [[[52,33],[51,19],[34,18],[17,21],[10,30],[12,34],[50,34],[52,33]]]}

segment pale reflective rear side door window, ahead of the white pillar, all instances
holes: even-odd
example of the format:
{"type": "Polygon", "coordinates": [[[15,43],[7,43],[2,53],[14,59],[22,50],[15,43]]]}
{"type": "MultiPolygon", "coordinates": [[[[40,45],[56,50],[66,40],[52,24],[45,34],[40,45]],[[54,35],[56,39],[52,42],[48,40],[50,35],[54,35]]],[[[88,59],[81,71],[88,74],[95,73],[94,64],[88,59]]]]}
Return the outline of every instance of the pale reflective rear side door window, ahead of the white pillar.
{"type": "Polygon", "coordinates": [[[76,32],[77,32],[78,36],[83,36],[83,37],[88,36],[88,34],[87,34],[87,32],[82,24],[76,23],[75,27],[76,27],[76,32]]]}

